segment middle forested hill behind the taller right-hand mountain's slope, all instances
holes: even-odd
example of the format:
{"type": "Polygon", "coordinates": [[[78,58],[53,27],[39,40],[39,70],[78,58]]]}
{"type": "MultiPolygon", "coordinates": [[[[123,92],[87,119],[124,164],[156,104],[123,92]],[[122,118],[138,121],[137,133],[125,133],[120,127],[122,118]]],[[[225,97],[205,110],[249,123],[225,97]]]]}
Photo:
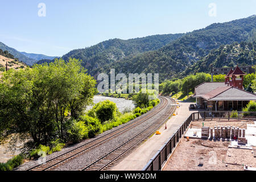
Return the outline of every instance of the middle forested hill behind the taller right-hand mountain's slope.
{"type": "Polygon", "coordinates": [[[153,35],[129,40],[110,39],[95,46],[75,49],[62,58],[82,60],[82,65],[92,73],[93,69],[119,61],[129,55],[152,51],[180,38],[183,34],[153,35]]]}

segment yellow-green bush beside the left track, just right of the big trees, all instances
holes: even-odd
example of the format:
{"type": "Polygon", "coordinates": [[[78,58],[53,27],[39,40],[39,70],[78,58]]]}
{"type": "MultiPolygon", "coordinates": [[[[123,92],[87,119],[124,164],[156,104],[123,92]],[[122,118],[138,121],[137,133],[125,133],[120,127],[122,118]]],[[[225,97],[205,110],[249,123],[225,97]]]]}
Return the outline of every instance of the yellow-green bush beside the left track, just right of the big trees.
{"type": "Polygon", "coordinates": [[[85,122],[89,138],[93,138],[96,134],[101,133],[101,122],[97,118],[90,117],[89,115],[83,115],[80,117],[80,120],[85,122]]]}

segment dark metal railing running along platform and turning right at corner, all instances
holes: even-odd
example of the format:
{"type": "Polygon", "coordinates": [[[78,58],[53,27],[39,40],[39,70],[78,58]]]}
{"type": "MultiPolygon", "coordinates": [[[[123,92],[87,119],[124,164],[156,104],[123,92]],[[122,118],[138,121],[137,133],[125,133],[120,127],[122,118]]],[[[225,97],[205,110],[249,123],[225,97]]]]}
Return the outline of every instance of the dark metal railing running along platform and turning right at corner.
{"type": "Polygon", "coordinates": [[[185,131],[187,131],[190,123],[199,119],[209,118],[223,118],[223,119],[256,119],[256,112],[244,112],[244,111],[199,111],[192,113],[176,130],[174,134],[164,143],[163,147],[154,155],[152,159],[146,164],[142,171],[159,171],[162,169],[163,164],[167,162],[167,159],[174,151],[177,143],[182,138],[185,131]]]}

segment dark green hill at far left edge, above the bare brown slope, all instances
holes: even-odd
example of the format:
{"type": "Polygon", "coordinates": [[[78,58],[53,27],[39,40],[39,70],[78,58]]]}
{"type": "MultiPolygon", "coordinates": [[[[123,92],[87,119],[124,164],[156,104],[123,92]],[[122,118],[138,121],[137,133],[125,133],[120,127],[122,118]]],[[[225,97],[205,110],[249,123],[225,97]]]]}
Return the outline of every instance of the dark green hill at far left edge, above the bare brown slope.
{"type": "Polygon", "coordinates": [[[20,53],[16,49],[8,47],[5,44],[3,44],[2,42],[0,42],[0,49],[2,49],[3,51],[8,51],[16,59],[19,59],[19,61],[22,61],[23,63],[26,63],[27,65],[32,65],[32,64],[36,63],[36,60],[31,59],[30,57],[27,57],[27,56],[23,55],[22,53],[20,53]]]}

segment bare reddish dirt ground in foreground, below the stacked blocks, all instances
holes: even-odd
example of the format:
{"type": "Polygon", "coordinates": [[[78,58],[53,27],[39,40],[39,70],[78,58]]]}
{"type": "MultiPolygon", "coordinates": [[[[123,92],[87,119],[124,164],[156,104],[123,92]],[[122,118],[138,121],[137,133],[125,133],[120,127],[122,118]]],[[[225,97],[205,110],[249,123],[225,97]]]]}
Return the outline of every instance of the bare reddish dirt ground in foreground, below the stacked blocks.
{"type": "Polygon", "coordinates": [[[229,142],[183,138],[164,171],[243,171],[243,166],[224,163],[229,142]],[[203,146],[203,145],[204,146],[203,146]],[[203,166],[199,165],[203,158],[203,166]]]}

